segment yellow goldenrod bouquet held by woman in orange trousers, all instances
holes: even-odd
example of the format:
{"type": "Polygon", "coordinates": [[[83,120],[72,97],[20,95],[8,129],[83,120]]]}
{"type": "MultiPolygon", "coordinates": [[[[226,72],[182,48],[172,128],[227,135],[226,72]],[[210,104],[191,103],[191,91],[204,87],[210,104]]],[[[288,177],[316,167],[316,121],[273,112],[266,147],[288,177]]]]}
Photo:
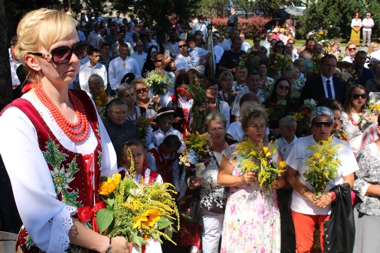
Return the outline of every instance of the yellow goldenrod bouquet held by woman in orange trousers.
{"type": "Polygon", "coordinates": [[[316,193],[314,200],[322,196],[328,182],[336,178],[338,173],[340,160],[337,157],[336,150],[341,147],[341,144],[333,145],[332,137],[330,136],[327,141],[320,141],[318,145],[310,144],[307,148],[313,153],[308,156],[308,160],[304,164],[309,168],[303,173],[303,176],[312,185],[313,191],[316,193]]]}

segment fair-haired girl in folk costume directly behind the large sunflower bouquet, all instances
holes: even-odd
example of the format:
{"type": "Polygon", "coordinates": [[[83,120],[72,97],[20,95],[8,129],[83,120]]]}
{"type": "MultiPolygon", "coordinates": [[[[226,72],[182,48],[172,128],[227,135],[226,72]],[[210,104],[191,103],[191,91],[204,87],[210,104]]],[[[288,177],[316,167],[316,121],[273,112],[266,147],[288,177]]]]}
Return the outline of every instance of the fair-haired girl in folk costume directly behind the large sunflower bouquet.
{"type": "MultiPolygon", "coordinates": [[[[133,178],[137,182],[143,180],[145,184],[163,183],[162,177],[157,172],[149,170],[149,168],[145,166],[146,150],[144,149],[144,145],[135,139],[127,141],[123,145],[123,165],[119,167],[119,174],[122,175],[122,178],[125,177],[126,173],[129,173],[131,166],[131,153],[129,150],[131,150],[134,160],[133,178]]],[[[141,248],[142,253],[162,253],[161,243],[156,239],[148,240],[146,245],[142,245],[141,248]]],[[[139,252],[138,246],[133,244],[130,252],[139,252]]]]}

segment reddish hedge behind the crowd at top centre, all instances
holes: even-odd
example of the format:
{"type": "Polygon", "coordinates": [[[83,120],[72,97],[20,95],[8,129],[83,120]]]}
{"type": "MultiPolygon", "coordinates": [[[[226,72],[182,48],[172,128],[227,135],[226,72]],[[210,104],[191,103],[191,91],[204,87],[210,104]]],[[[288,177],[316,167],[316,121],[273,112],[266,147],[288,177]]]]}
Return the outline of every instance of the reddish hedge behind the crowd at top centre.
{"type": "MultiPolygon", "coordinates": [[[[238,29],[240,29],[246,38],[253,38],[254,35],[258,34],[260,37],[265,36],[265,23],[270,21],[272,18],[265,18],[260,16],[254,16],[251,18],[241,18],[239,17],[238,29]]],[[[227,29],[227,19],[215,18],[212,23],[220,32],[225,32],[227,29]]]]}

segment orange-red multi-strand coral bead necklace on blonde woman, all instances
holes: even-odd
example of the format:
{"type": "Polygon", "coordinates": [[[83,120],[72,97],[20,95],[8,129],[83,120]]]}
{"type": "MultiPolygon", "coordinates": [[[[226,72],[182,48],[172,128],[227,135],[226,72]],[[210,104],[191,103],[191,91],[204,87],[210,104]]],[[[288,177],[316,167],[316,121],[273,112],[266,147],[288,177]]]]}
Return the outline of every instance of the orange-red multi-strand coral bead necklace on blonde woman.
{"type": "Polygon", "coordinates": [[[50,113],[52,114],[54,120],[57,122],[59,127],[63,132],[74,142],[81,142],[86,139],[89,131],[89,123],[87,120],[85,109],[81,101],[72,94],[71,91],[68,91],[68,97],[74,106],[75,113],[77,113],[78,121],[76,123],[69,122],[62,113],[58,110],[57,106],[53,101],[46,95],[41,86],[34,87],[35,95],[40,99],[41,103],[45,105],[50,113]],[[79,130],[74,130],[77,126],[81,125],[79,130]],[[82,134],[83,133],[83,134],[82,134]],[[76,135],[82,134],[81,137],[76,137],[76,135]]]}

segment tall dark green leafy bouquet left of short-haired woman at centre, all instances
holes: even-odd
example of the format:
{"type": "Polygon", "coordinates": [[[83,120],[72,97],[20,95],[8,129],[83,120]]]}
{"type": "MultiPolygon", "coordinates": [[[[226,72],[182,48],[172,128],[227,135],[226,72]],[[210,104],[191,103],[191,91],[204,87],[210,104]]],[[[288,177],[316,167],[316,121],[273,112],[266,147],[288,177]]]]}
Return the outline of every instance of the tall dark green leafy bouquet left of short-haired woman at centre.
{"type": "Polygon", "coordinates": [[[205,91],[207,90],[207,84],[201,83],[199,81],[195,82],[194,85],[190,86],[187,90],[189,97],[194,100],[192,106],[193,120],[197,125],[201,124],[202,118],[207,114],[207,111],[200,111],[200,107],[204,104],[207,104],[207,99],[205,91]]]}

